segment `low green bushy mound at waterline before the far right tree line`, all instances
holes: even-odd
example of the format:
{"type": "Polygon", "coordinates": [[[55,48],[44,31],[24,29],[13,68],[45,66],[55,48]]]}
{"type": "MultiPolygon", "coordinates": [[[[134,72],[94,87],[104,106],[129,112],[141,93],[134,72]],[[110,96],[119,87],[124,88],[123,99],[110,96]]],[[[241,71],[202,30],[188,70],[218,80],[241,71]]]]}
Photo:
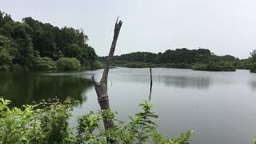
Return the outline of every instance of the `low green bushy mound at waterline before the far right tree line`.
{"type": "Polygon", "coordinates": [[[193,70],[206,71],[235,71],[235,67],[228,62],[210,62],[208,64],[195,64],[193,70]]]}

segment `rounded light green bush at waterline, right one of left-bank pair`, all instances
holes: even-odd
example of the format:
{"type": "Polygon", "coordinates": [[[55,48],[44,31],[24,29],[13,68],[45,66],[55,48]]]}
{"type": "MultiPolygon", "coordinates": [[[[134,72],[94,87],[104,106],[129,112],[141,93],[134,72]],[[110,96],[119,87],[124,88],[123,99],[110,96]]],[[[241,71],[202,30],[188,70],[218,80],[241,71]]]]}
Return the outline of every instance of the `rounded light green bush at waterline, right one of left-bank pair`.
{"type": "Polygon", "coordinates": [[[80,70],[81,63],[77,58],[59,58],[57,68],[58,70],[80,70]]]}

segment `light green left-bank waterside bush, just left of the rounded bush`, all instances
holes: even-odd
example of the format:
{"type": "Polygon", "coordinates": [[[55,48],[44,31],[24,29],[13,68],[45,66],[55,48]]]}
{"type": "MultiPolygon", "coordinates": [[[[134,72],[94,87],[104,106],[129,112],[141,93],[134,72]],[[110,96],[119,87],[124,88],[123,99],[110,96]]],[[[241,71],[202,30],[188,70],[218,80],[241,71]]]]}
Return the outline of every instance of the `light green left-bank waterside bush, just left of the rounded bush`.
{"type": "Polygon", "coordinates": [[[53,59],[48,57],[35,58],[34,65],[32,67],[33,70],[56,70],[56,62],[53,59]]]}

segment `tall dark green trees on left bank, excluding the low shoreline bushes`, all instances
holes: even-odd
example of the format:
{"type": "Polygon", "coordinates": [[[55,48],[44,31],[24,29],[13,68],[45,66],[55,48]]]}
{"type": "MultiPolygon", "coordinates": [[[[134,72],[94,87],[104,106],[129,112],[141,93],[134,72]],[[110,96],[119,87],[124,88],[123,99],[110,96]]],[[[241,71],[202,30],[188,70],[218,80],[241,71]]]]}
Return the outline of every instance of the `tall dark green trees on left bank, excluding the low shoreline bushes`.
{"type": "Polygon", "coordinates": [[[15,65],[31,69],[31,63],[37,57],[54,61],[62,57],[77,58],[82,65],[90,65],[98,56],[87,41],[88,36],[83,30],[67,26],[59,28],[31,17],[14,22],[10,14],[0,11],[0,49],[8,51],[15,65]]]}

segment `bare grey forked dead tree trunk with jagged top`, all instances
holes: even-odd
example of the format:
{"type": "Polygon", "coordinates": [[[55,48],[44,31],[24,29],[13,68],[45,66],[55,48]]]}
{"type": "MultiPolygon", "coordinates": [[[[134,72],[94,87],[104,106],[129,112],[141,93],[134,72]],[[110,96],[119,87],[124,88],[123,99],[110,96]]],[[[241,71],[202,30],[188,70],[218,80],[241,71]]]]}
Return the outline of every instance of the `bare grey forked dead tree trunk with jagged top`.
{"type": "MultiPolygon", "coordinates": [[[[109,56],[106,58],[106,67],[102,74],[102,79],[100,82],[96,82],[94,79],[94,76],[92,76],[92,81],[94,82],[94,88],[96,91],[96,94],[98,96],[98,104],[101,106],[101,110],[110,110],[110,102],[107,94],[107,77],[109,74],[110,66],[112,64],[113,56],[114,56],[114,50],[116,43],[118,41],[118,35],[119,31],[122,26],[122,21],[115,22],[114,26],[114,38],[110,47],[110,53],[109,56]]],[[[110,127],[113,126],[113,122],[103,119],[105,130],[110,129],[110,127]]]]}

